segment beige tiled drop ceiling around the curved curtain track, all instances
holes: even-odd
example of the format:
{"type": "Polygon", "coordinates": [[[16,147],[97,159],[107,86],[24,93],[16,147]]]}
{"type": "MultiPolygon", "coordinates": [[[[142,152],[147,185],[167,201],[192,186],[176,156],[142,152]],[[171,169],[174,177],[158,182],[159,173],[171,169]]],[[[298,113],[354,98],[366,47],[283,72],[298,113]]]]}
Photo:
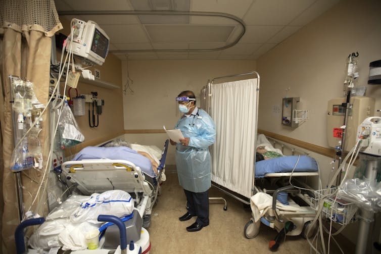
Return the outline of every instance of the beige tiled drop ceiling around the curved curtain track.
{"type": "MultiPolygon", "coordinates": [[[[141,0],[147,1],[147,0],[141,0]]],[[[176,0],[174,0],[176,1],[176,0]]],[[[244,20],[246,32],[239,43],[232,48],[220,50],[217,54],[207,54],[208,52],[190,52],[188,59],[200,58],[202,55],[211,59],[257,59],[260,55],[268,52],[277,43],[288,38],[314,18],[327,11],[339,2],[339,0],[189,0],[190,11],[220,12],[236,16],[244,20]],[[275,4],[274,4],[275,3],[275,4]],[[252,45],[250,45],[252,44],[252,45]],[[240,48],[242,47],[242,48],[240,48]],[[216,57],[217,56],[217,57],[216,57]]],[[[133,10],[130,0],[109,0],[105,4],[104,0],[55,0],[58,11],[102,11],[102,10],[133,10]]],[[[110,37],[110,50],[139,50],[139,49],[210,49],[222,47],[235,41],[240,34],[240,25],[236,21],[223,17],[189,17],[192,25],[210,25],[211,22],[218,21],[217,27],[234,25],[234,29],[228,35],[226,41],[221,42],[220,38],[213,39],[212,32],[189,31],[186,33],[185,41],[181,41],[176,36],[165,36],[160,39],[160,43],[155,41],[149,29],[144,24],[140,24],[137,16],[134,15],[71,15],[65,16],[82,20],[96,21],[110,37]],[[122,25],[123,24],[123,25],[122,25]],[[166,41],[166,38],[170,40],[166,41]],[[202,48],[203,46],[207,46],[202,48]],[[171,47],[171,48],[169,48],[171,47]]],[[[151,24],[150,24],[151,25],[151,24]]],[[[153,24],[151,26],[162,26],[164,30],[170,30],[171,25],[153,24]]],[[[159,27],[156,27],[159,28],[159,27]]],[[[242,28],[241,28],[242,29],[242,28]]],[[[190,29],[192,30],[192,29],[190,29]]],[[[181,32],[181,29],[178,29],[181,32]]],[[[242,32],[242,30],[241,30],[242,32]]],[[[152,33],[152,32],[151,32],[152,33]]],[[[163,32],[155,32],[162,35],[163,32]]],[[[218,33],[217,33],[218,34],[218,33]]],[[[181,35],[178,35],[181,36],[181,35]]],[[[222,37],[221,37],[222,36],[222,37]]],[[[163,36],[162,36],[163,37],[163,36]]],[[[125,54],[122,54],[125,55],[125,54]]],[[[118,55],[121,58],[122,55],[118,55]]],[[[161,54],[161,58],[170,57],[171,52],[161,54]]],[[[184,56],[186,54],[182,54],[184,56]]],[[[144,59],[159,59],[157,54],[136,53],[131,55],[134,59],[141,56],[144,59]]],[[[179,55],[174,54],[175,59],[179,55]]]]}

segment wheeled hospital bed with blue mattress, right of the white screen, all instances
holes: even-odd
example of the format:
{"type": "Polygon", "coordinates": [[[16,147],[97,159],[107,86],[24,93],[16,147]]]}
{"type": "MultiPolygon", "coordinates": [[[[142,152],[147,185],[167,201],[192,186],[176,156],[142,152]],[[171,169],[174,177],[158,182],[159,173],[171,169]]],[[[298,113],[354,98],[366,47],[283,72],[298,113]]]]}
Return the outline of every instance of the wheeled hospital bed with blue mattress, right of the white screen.
{"type": "MultiPolygon", "coordinates": [[[[258,135],[258,140],[264,138],[263,134],[258,135]]],[[[245,236],[249,239],[256,237],[260,225],[264,224],[280,234],[292,226],[287,235],[307,238],[309,232],[310,237],[314,232],[314,229],[310,231],[310,223],[316,216],[316,211],[310,207],[314,191],[299,178],[319,177],[318,164],[297,147],[269,137],[266,142],[273,151],[283,155],[287,150],[290,156],[256,162],[254,195],[250,197],[252,218],[245,225],[245,236]]],[[[270,241],[270,248],[275,250],[279,243],[270,241]]]]}

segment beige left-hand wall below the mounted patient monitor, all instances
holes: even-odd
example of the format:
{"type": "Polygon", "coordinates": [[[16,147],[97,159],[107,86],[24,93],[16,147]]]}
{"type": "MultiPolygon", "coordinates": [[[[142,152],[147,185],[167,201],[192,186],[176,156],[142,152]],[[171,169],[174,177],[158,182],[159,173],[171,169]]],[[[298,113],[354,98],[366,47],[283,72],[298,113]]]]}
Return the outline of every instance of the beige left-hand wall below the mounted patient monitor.
{"type": "MultiPolygon", "coordinates": [[[[70,21],[66,20],[64,17],[60,17],[64,29],[60,31],[61,33],[67,35],[70,33],[70,21]]],[[[61,53],[61,49],[58,51],[61,53]]],[[[76,63],[80,63],[77,59],[76,63]]],[[[81,145],[102,142],[105,139],[110,139],[114,136],[121,135],[123,133],[123,98],[122,98],[122,68],[121,61],[112,54],[109,54],[106,58],[105,63],[102,66],[90,67],[92,73],[94,74],[94,68],[101,71],[101,80],[107,81],[114,85],[117,85],[117,89],[108,89],[96,85],[92,85],[85,82],[78,83],[78,93],[79,94],[90,94],[91,91],[98,92],[98,98],[105,100],[105,106],[103,107],[103,113],[99,116],[99,126],[96,128],[90,128],[88,124],[88,110],[89,104],[85,105],[85,115],[76,117],[76,121],[83,135],[85,136],[85,141],[81,145]]],[[[68,93],[66,93],[68,94],[68,93]]],[[[75,95],[72,90],[71,95],[75,95]]],[[[92,108],[91,108],[92,111],[92,108]]],[[[68,155],[67,155],[68,156],[68,155]]]]}

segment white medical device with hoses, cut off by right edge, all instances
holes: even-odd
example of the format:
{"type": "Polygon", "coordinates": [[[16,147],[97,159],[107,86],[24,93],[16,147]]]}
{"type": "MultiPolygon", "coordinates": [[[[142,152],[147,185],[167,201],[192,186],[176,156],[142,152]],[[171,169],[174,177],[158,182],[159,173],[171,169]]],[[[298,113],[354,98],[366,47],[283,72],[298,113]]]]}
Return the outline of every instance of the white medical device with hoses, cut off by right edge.
{"type": "Polygon", "coordinates": [[[366,118],[357,129],[357,138],[362,153],[381,157],[381,117],[366,118]]]}

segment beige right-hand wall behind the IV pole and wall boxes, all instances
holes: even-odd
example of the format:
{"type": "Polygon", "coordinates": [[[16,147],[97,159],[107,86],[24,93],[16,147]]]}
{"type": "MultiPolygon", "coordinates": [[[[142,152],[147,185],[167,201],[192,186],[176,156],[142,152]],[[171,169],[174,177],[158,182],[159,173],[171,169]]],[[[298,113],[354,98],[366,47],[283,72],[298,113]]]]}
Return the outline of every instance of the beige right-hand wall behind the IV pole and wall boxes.
{"type": "MultiPolygon", "coordinates": [[[[366,95],[381,109],[381,85],[367,85],[369,62],[381,59],[381,1],[341,1],[270,52],[257,60],[261,75],[258,128],[328,147],[327,101],[343,96],[345,61],[358,52],[357,85],[367,86],[366,95]],[[300,97],[299,109],[309,110],[310,119],[296,129],[281,126],[280,113],[285,89],[288,97],[300,97]]],[[[381,116],[375,113],[375,116],[381,116]]],[[[333,157],[334,155],[332,155],[333,157]]],[[[331,158],[315,157],[327,183],[331,158]]],[[[343,234],[356,241],[358,224],[343,234]]],[[[376,230],[377,231],[377,230],[376,230]]],[[[377,233],[378,234],[378,233],[377,233]]]]}

